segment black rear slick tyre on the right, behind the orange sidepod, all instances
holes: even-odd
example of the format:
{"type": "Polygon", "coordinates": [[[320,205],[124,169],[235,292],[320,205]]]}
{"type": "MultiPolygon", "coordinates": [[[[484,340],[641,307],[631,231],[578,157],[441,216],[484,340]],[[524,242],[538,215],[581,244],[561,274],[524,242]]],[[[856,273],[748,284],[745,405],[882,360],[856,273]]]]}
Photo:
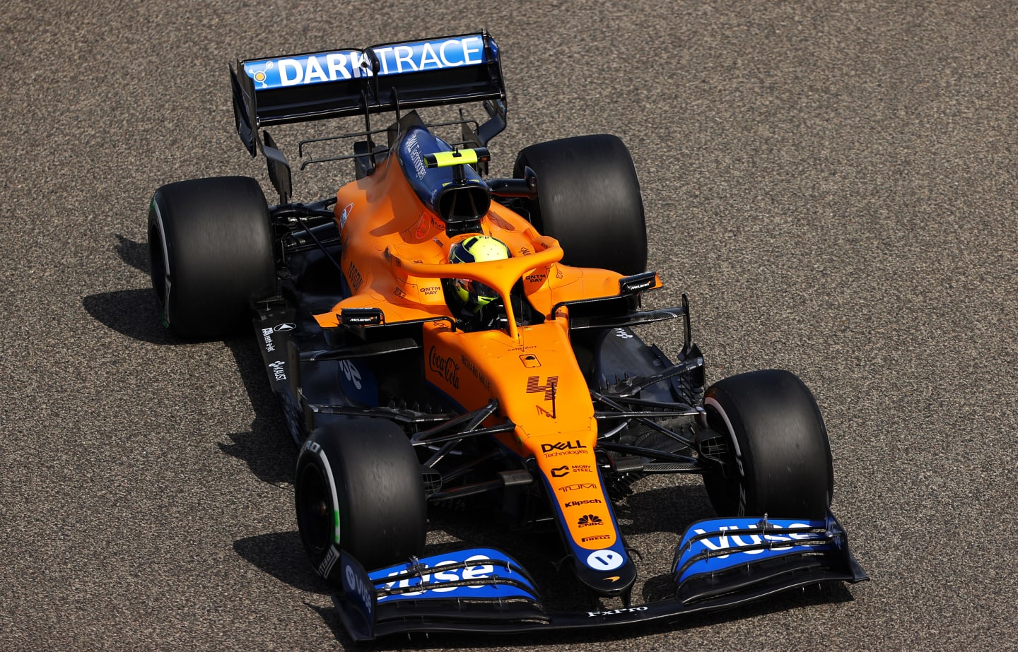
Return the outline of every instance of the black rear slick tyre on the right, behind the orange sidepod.
{"type": "Polygon", "coordinates": [[[629,150],[617,136],[562,138],[519,153],[513,176],[538,180],[530,222],[562,245],[563,263],[629,276],[646,271],[643,199],[629,150]]]}

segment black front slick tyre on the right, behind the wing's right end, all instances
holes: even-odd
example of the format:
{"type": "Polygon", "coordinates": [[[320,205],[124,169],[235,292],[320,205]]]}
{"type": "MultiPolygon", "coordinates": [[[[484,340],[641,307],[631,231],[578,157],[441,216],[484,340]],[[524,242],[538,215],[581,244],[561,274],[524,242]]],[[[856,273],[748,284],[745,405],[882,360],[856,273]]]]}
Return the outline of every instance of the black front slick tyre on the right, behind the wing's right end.
{"type": "Polygon", "coordinates": [[[719,516],[822,519],[834,492],[827,428],[812,394],[779,369],[724,378],[703,398],[724,471],[703,481],[719,516]]]}

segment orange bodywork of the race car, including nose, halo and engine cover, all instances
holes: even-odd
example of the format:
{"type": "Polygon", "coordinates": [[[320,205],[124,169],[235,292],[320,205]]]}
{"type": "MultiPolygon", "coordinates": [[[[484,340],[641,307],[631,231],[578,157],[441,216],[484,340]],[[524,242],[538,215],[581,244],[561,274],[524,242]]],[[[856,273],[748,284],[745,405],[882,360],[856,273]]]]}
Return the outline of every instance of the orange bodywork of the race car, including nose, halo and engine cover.
{"type": "Polygon", "coordinates": [[[512,257],[448,263],[450,246],[467,236],[446,235],[445,223],[414,192],[397,156],[340,188],[337,199],[341,266],[351,296],[316,315],[319,324],[338,327],[348,308],[381,309],[386,324],[422,321],[427,381],[465,411],[496,399],[497,414],[516,424],[513,432],[498,435],[501,443],[522,459],[534,458],[574,545],[613,545],[616,529],[593,452],[593,407],[570,345],[568,310],[553,308],[617,296],[621,275],[561,264],[556,240],[495,202],[480,227],[504,242],[512,257]],[[506,328],[455,329],[443,278],[472,279],[495,289],[506,306],[506,328]],[[526,299],[547,315],[543,323],[517,325],[508,296],[520,279],[526,299]]]}

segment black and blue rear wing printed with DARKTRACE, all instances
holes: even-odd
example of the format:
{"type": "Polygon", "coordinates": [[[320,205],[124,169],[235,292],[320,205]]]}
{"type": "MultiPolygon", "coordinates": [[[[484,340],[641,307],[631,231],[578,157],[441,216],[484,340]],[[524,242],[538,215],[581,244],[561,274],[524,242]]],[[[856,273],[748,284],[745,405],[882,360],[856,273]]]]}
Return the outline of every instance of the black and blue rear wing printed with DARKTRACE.
{"type": "Polygon", "coordinates": [[[487,32],[237,60],[230,80],[237,133],[251,157],[265,151],[259,130],[271,124],[363,115],[371,131],[372,114],[395,111],[398,120],[403,110],[483,102],[490,119],[474,134],[479,144],[506,125],[499,48],[487,32]]]}

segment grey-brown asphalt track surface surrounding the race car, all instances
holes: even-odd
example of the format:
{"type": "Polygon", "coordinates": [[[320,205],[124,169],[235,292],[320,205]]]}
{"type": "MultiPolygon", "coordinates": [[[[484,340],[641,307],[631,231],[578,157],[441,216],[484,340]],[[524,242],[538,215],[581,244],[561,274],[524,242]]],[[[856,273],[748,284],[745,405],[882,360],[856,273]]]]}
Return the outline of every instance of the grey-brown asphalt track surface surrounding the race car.
{"type": "MultiPolygon", "coordinates": [[[[353,647],[299,548],[296,454],[252,339],[178,343],[157,321],[147,202],[201,176],[270,187],[233,132],[232,57],[478,27],[510,94],[493,171],[535,141],[627,142],[667,284],[652,303],[689,294],[709,378],[784,367],[813,390],[872,581],[611,633],[367,649],[1014,648],[1018,7],[913,5],[8,2],[0,649],[353,647]]],[[[276,135],[295,159],[329,129],[276,135]]],[[[296,173],[297,198],[349,177],[296,173]]],[[[710,508],[694,481],[638,487],[646,577],[710,508]]],[[[439,514],[431,541],[472,536],[565,586],[523,535],[439,514]]]]}

